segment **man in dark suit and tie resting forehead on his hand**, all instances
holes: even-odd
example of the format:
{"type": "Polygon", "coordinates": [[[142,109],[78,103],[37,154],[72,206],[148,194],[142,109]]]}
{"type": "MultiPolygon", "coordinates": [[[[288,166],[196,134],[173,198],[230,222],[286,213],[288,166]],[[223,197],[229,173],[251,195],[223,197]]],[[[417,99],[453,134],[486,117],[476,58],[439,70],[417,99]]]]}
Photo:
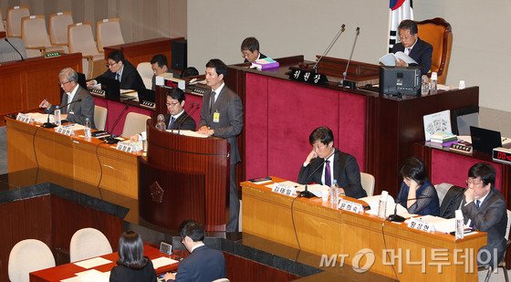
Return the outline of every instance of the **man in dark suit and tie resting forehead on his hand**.
{"type": "Polygon", "coordinates": [[[312,145],[312,151],[308,153],[300,169],[298,183],[321,183],[330,186],[337,180],[341,193],[352,198],[367,196],[360,183],[357,160],[352,155],[334,148],[334,134],[328,127],[322,126],[312,131],[308,141],[312,145]],[[310,176],[313,172],[314,174],[310,176]]]}

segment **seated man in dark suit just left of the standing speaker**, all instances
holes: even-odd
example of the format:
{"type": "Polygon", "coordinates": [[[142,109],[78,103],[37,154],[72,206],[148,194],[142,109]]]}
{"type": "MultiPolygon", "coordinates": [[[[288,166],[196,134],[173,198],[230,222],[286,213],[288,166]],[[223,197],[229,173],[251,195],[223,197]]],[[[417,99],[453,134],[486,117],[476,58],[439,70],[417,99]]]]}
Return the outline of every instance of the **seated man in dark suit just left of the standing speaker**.
{"type": "MultiPolygon", "coordinates": [[[[167,114],[163,115],[167,130],[195,131],[195,120],[184,111],[184,99],[182,89],[167,89],[167,114]]],[[[143,140],[142,136],[145,136],[145,132],[131,136],[130,140],[143,140]]]]}

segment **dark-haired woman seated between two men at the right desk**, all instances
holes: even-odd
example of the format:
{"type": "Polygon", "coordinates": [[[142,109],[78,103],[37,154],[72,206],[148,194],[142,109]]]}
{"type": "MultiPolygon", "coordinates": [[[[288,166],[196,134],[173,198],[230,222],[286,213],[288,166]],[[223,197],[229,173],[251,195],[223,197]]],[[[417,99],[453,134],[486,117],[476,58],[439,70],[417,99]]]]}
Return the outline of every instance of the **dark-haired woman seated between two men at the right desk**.
{"type": "Polygon", "coordinates": [[[426,175],[424,163],[412,157],[401,167],[402,183],[398,201],[410,214],[440,214],[438,194],[426,175]]]}

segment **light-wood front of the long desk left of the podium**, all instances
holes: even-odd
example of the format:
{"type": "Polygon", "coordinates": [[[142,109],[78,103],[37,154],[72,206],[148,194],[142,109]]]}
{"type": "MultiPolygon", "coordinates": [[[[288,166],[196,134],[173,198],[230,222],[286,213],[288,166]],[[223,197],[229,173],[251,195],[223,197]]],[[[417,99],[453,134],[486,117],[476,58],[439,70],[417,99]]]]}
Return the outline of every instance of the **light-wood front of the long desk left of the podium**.
{"type": "Polygon", "coordinates": [[[69,137],[5,118],[7,126],[7,172],[39,167],[78,181],[99,185],[136,199],[138,196],[137,156],[115,149],[98,139],[86,141],[83,131],[69,137]]]}

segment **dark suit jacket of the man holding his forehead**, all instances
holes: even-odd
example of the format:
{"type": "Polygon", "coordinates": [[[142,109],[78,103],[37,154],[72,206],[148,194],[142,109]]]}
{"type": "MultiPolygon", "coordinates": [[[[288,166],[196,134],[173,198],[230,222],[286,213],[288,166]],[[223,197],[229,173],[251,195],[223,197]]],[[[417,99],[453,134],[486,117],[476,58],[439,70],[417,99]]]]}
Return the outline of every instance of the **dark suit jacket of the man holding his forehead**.
{"type": "MultiPolygon", "coordinates": [[[[317,172],[310,177],[308,183],[321,183],[321,176],[323,175],[324,159],[315,158],[308,163],[308,166],[303,166],[298,174],[298,183],[305,184],[311,172],[314,172],[321,166],[317,172]]],[[[367,193],[362,188],[360,183],[360,169],[359,163],[352,155],[335,149],[334,152],[334,179],[337,179],[339,187],[344,188],[347,196],[352,198],[366,197],[367,193]]]]}

